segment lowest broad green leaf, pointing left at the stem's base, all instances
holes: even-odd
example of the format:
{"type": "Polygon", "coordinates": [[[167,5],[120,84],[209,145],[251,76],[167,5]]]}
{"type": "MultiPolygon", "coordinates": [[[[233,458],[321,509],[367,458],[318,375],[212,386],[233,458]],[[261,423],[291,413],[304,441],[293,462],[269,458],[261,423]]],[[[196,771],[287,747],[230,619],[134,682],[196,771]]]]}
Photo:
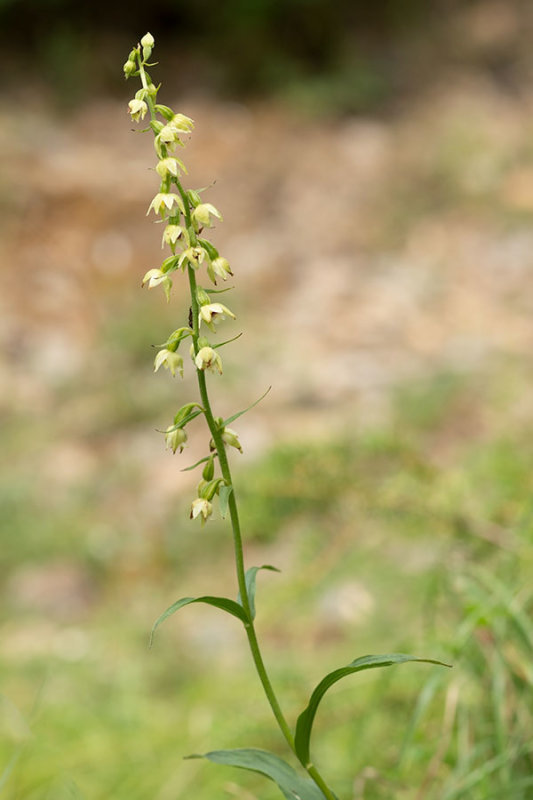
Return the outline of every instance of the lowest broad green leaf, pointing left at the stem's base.
{"type": "Polygon", "coordinates": [[[258,772],[274,781],[287,800],[324,800],[324,795],[312,781],[302,778],[290,764],[268,750],[243,747],[239,750],[212,750],[204,755],[188,758],[207,758],[215,764],[239,767],[250,772],[258,772]]]}

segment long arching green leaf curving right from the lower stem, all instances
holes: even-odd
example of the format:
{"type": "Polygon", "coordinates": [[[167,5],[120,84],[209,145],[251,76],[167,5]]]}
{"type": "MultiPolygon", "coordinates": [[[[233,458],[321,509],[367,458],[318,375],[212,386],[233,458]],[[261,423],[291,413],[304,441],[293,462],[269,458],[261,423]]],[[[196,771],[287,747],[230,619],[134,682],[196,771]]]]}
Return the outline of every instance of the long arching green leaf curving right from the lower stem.
{"type": "Polygon", "coordinates": [[[352,661],[346,667],[336,669],[326,675],[325,678],[322,678],[311,695],[307,708],[302,711],[296,723],[296,735],[294,740],[295,751],[304,766],[310,761],[309,744],[315,714],[327,690],[333,686],[334,683],[340,681],[341,678],[352,675],[354,672],[362,672],[365,669],[376,669],[377,667],[390,667],[392,664],[404,664],[406,661],[421,661],[427,664],[438,664],[441,667],[450,666],[450,664],[444,664],[442,661],[435,661],[432,658],[416,658],[415,656],[407,656],[404,653],[388,653],[387,655],[362,656],[361,658],[356,658],[355,661],[352,661]]]}

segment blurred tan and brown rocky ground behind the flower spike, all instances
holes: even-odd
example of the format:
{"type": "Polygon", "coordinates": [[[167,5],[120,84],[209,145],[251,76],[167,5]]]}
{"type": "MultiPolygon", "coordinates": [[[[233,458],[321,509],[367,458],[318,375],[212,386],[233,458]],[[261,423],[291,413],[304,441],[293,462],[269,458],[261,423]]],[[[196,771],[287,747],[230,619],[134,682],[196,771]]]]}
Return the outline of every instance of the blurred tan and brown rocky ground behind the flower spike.
{"type": "MultiPolygon", "coordinates": [[[[270,413],[364,417],[398,381],[529,352],[533,89],[451,75],[405,114],[330,123],[171,100],[196,120],[190,183],[216,182],[224,212],[239,393],[267,381],[270,413]]],[[[46,416],[106,321],[142,313],[160,258],[153,151],[122,105],[3,116],[2,404],[46,416]]]]}

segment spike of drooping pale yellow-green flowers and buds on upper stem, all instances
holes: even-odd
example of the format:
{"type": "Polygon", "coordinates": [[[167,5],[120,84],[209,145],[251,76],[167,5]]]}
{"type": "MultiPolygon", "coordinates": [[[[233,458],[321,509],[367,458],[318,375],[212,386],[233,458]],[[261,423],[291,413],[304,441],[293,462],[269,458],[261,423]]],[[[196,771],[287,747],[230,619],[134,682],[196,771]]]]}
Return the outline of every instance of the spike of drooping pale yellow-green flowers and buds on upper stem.
{"type": "MultiPolygon", "coordinates": [[[[235,314],[222,303],[214,300],[213,294],[220,289],[217,281],[226,281],[233,275],[230,264],[215,245],[205,237],[205,230],[212,228],[215,221],[222,220],[220,211],[202,198],[203,190],[185,189],[181,179],[187,168],[178,158],[178,148],[185,146],[185,140],[194,130],[194,122],[185,114],[175,113],[169,106],[157,102],[159,87],[148,75],[147,68],[154,47],[154,38],[147,33],[130,52],[124,64],[126,78],[139,77],[141,88],[128,103],[128,113],[134,122],[149,117],[149,128],[154,135],[157,155],[155,172],[160,179],[159,189],[148,206],[164,224],[162,247],[167,246],[171,255],[158,267],[149,269],[142,279],[148,289],[161,286],[167,301],[170,300],[173,273],[187,273],[191,289],[191,310],[189,324],[173,331],[167,341],[158,346],[154,370],[160,367],[175,377],[184,374],[184,360],[179,353],[181,343],[190,340],[190,355],[198,375],[203,405],[187,403],[182,406],[169,425],[165,434],[167,447],[173,453],[183,451],[187,443],[186,425],[199,414],[204,414],[211,432],[210,455],[199,463],[204,463],[202,481],[198,486],[198,496],[192,503],[191,519],[199,518],[202,525],[213,513],[212,501],[215,496],[222,498],[231,492],[228,481],[215,477],[215,458],[220,458],[221,450],[234,447],[242,453],[242,447],[235,431],[228,428],[221,418],[213,417],[205,391],[207,372],[221,375],[222,359],[219,348],[226,344],[210,342],[203,335],[203,328],[216,333],[217,326],[226,319],[235,319],[235,314]],[[199,284],[205,275],[210,288],[199,284]],[[202,393],[202,387],[204,392],[202,393]],[[207,406],[207,408],[206,408],[207,406]]],[[[233,418],[232,418],[233,419],[233,418]]],[[[225,456],[224,456],[225,457],[225,456]]],[[[221,501],[222,502],[222,501],[221,501]]]]}

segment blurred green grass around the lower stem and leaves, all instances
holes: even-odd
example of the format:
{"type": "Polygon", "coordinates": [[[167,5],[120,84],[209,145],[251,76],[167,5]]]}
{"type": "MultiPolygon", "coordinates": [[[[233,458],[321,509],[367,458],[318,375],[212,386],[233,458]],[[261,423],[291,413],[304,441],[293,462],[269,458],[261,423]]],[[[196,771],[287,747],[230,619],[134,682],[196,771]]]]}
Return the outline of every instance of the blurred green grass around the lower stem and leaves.
{"type": "MultiPolygon", "coordinates": [[[[365,653],[454,665],[363,673],[331,691],[312,745],[340,797],[353,796],[354,777],[361,800],[531,796],[533,414],[515,412],[529,379],[523,365],[499,364],[400,387],[380,429],[280,444],[237,474],[249,562],[283,567],[258,576],[258,627],[291,720],[325,671],[365,653]]],[[[97,399],[82,441],[105,394],[94,377],[85,388],[97,399]]],[[[67,408],[74,389],[62,391],[67,408]]],[[[141,382],[122,423],[112,401],[111,441],[144,428],[148,397],[141,382]]],[[[39,430],[37,455],[79,431],[81,416],[39,430]]],[[[177,597],[234,593],[223,524],[189,524],[187,497],[147,505],[150,467],[128,464],[105,437],[105,468],[47,491],[27,450],[37,433],[12,422],[0,798],[277,797],[259,777],[182,761],[243,745],[284,754],[238,623],[187,608],[147,648],[151,623],[177,597]],[[85,612],[14,596],[26,564],[57,560],[87,573],[85,612]]]]}

